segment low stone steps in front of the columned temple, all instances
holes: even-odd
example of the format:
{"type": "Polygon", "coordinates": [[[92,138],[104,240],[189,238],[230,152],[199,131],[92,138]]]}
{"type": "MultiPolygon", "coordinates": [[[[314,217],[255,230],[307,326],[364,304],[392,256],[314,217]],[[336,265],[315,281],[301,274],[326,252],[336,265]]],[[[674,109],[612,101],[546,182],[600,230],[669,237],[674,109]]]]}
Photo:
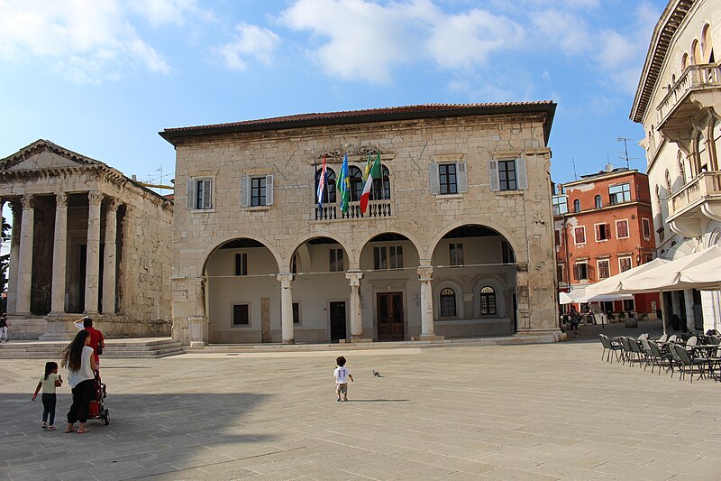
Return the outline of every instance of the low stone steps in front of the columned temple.
{"type": "MultiPolygon", "coordinates": [[[[18,340],[0,344],[0,359],[59,359],[67,341],[18,340]]],[[[166,357],[183,354],[173,338],[107,339],[101,358],[166,357]]]]}

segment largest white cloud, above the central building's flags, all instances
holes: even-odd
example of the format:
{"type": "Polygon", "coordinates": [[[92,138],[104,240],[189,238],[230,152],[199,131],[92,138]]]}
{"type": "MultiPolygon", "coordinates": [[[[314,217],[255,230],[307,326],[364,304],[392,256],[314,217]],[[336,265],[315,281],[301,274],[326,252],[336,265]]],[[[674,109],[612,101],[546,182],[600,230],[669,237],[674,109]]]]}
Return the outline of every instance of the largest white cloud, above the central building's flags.
{"type": "Polygon", "coordinates": [[[431,0],[297,0],[280,22],[313,33],[310,54],[327,74],[371,82],[388,82],[393,69],[426,60],[441,69],[477,66],[523,36],[507,17],[479,9],[446,14],[431,0]]]}

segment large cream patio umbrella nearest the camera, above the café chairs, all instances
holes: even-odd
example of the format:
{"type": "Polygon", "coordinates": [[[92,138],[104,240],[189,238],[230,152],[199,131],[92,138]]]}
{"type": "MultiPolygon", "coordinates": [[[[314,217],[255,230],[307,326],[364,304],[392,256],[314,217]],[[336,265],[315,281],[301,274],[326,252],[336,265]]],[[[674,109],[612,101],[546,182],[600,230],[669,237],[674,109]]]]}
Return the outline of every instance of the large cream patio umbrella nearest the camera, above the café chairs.
{"type": "MultiPolygon", "coordinates": [[[[721,271],[713,272],[713,264],[721,256],[721,245],[714,245],[696,254],[689,254],[667,264],[630,275],[621,281],[622,291],[632,292],[657,292],[677,291],[681,289],[713,289],[721,282],[721,271]],[[702,282],[694,282],[690,278],[682,278],[682,274],[693,268],[699,269],[697,279],[702,282]],[[700,273],[706,273],[701,277],[700,273]]],[[[649,263],[650,264],[650,263],[649,263]]],[[[693,274],[692,274],[693,275],[693,274]]]]}

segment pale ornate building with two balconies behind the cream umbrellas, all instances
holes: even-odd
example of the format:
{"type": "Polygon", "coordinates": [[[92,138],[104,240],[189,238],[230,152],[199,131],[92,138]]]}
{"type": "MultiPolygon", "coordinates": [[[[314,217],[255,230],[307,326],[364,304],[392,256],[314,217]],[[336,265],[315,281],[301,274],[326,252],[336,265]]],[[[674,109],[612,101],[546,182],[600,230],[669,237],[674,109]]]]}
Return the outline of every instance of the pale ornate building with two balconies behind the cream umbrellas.
{"type": "MultiPolygon", "coordinates": [[[[721,4],[671,0],[656,28],[631,119],[643,125],[656,254],[677,259],[721,243],[721,4]]],[[[669,316],[721,329],[719,291],[664,294],[669,316]]]]}

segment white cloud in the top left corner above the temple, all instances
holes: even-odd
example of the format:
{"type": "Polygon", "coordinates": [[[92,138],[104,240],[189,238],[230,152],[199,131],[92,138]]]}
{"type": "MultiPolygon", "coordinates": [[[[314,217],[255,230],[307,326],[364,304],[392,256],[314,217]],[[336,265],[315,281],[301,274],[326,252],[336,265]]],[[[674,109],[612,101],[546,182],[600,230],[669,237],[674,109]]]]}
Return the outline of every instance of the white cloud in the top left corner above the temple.
{"type": "Polygon", "coordinates": [[[116,79],[124,64],[168,73],[166,60],[143,42],[119,0],[0,0],[0,57],[51,60],[78,83],[116,79]]]}

